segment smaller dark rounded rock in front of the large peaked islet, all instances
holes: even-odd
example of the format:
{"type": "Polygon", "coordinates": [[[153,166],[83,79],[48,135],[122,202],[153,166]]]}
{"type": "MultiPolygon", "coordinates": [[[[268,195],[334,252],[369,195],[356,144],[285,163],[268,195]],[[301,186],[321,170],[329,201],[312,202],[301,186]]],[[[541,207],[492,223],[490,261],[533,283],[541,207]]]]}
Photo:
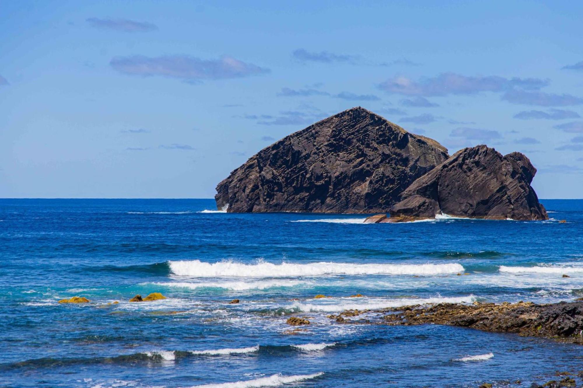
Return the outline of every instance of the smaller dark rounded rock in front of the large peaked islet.
{"type": "Polygon", "coordinates": [[[476,146],[458,151],[423,175],[390,210],[389,222],[434,218],[436,214],[493,220],[548,220],[531,187],[536,168],[521,153],[502,156],[476,146]]]}

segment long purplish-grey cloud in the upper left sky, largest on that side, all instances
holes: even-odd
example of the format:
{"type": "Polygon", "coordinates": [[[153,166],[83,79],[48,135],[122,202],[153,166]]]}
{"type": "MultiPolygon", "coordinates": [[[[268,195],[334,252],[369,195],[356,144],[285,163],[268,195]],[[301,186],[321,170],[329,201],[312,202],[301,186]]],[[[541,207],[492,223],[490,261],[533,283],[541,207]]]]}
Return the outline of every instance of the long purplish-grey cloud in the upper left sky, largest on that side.
{"type": "Polygon", "coordinates": [[[196,82],[202,79],[226,79],[269,73],[269,69],[232,57],[200,59],[189,55],[114,57],[111,67],[120,73],[139,76],[164,76],[196,82]]]}

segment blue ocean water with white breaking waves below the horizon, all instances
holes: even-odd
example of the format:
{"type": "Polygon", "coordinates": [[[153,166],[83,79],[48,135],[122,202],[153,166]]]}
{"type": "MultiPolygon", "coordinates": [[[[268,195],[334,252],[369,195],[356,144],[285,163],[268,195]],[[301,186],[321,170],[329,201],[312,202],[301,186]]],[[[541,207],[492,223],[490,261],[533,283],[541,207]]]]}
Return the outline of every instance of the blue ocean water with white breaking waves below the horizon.
{"type": "Polygon", "coordinates": [[[361,224],[209,199],[0,199],[0,385],[475,387],[578,371],[580,345],[326,318],[583,296],[583,200],[542,202],[553,220],[361,224]],[[167,299],[128,302],[150,292],[167,299]],[[58,304],[73,296],[91,302],[58,304]],[[312,324],[290,331],[290,316],[312,324]]]}

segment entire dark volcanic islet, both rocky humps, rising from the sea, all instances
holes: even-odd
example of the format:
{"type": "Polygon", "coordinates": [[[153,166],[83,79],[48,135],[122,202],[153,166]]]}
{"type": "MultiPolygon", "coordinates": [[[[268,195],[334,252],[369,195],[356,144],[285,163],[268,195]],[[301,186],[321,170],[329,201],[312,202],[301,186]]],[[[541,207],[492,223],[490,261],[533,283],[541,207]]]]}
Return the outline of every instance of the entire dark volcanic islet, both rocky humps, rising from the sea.
{"type": "Polygon", "coordinates": [[[262,149],[217,185],[235,213],[391,213],[366,223],[449,215],[547,220],[526,156],[485,145],[458,151],[356,107],[262,149]]]}

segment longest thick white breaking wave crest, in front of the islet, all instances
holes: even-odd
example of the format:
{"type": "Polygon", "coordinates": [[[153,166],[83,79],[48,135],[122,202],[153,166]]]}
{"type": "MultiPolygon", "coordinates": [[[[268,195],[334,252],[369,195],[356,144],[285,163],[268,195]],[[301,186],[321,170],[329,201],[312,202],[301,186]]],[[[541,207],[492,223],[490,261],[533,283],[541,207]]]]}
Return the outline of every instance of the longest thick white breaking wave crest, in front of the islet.
{"type": "Polygon", "coordinates": [[[170,270],[181,276],[195,277],[290,277],[321,276],[325,274],[347,275],[434,275],[463,272],[459,263],[448,264],[353,264],[318,262],[310,264],[281,263],[257,264],[236,263],[232,260],[218,263],[205,263],[200,260],[170,261],[170,270]]]}

